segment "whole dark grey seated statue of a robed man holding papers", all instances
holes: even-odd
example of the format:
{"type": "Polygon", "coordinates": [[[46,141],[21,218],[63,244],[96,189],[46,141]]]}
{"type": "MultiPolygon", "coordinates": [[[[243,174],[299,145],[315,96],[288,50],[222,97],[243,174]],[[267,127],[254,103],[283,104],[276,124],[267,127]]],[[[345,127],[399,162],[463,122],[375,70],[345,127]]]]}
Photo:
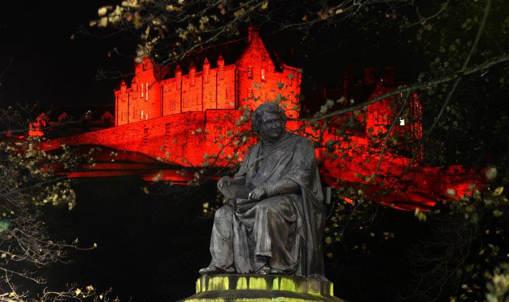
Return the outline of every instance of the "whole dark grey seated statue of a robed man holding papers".
{"type": "Polygon", "coordinates": [[[325,205],[315,149],[286,131],[285,111],[261,104],[250,147],[233,180],[217,187],[228,200],[215,214],[212,262],[200,274],[284,274],[326,280],[322,252],[325,205]]]}

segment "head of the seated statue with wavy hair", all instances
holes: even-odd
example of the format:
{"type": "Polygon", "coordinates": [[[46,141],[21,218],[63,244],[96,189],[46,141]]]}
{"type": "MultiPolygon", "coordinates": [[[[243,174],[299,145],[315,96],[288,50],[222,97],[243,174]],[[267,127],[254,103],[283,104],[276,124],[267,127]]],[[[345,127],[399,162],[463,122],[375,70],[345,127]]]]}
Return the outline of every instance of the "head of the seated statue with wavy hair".
{"type": "Polygon", "coordinates": [[[262,138],[277,140],[285,133],[288,117],[285,110],[275,103],[263,103],[254,110],[251,130],[262,138]]]}

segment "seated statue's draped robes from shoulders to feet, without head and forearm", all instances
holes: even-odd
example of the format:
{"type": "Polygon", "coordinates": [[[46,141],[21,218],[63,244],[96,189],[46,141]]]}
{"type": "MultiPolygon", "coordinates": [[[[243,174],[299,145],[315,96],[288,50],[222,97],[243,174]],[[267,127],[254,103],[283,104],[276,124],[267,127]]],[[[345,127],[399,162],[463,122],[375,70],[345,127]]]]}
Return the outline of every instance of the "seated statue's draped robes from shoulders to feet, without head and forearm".
{"type": "Polygon", "coordinates": [[[215,214],[211,264],[230,273],[254,273],[267,263],[296,276],[325,279],[322,239],[325,205],[315,149],[286,132],[272,146],[252,146],[234,176],[250,190],[291,179],[300,192],[266,197],[245,212],[232,204],[215,214]],[[261,154],[262,148],[265,154],[261,154]]]}

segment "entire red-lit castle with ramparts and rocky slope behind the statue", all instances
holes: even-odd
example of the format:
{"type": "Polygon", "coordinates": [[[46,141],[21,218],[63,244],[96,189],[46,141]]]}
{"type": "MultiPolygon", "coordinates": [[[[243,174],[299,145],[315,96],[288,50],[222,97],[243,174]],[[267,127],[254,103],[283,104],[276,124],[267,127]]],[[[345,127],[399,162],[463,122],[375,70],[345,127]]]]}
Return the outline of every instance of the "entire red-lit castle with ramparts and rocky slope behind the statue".
{"type": "MultiPolygon", "coordinates": [[[[189,176],[161,167],[161,161],[187,167],[220,166],[227,163],[224,160],[240,161],[247,146],[254,141],[247,141],[238,156],[229,158],[232,150],[243,144],[235,139],[234,132],[248,129],[247,126],[238,127],[238,123],[247,119],[246,109],[253,110],[260,102],[280,101],[289,117],[299,117],[301,105],[313,110],[325,99],[341,97],[347,100],[344,103],[352,98],[362,102],[395,89],[397,84],[391,68],[386,68],[379,79],[374,69],[365,69],[360,79],[347,71],[344,82],[341,89],[324,89],[323,94],[307,96],[305,104],[300,104],[301,72],[266,48],[258,28],[249,27],[247,38],[194,51],[174,67],[154,66],[147,57],[140,59],[135,64],[132,80],[122,81],[115,90],[115,112],[110,112],[115,127],[53,139],[46,147],[59,148],[65,143],[101,145],[108,151],[116,150],[114,153],[118,155],[114,162],[104,156],[98,158],[102,162],[92,171],[70,176],[138,175],[147,180],[157,177],[186,183],[189,176]],[[225,141],[230,138],[233,147],[226,146],[225,141]]],[[[410,113],[399,120],[393,131],[410,140],[419,139],[422,126],[417,96],[412,96],[408,110],[410,113]]],[[[379,160],[380,146],[374,136],[386,132],[394,116],[391,100],[385,99],[353,115],[330,120],[324,133],[312,127],[301,129],[302,135],[310,139],[322,143],[340,142],[332,152],[317,149],[322,178],[336,187],[369,182],[379,160]],[[348,129],[349,139],[342,140],[338,133],[345,125],[342,120],[347,119],[352,127],[348,129]]],[[[300,125],[289,122],[287,126],[295,130],[300,125]]],[[[392,185],[390,177],[384,176],[401,173],[409,164],[405,156],[409,151],[396,148],[385,152],[378,168],[383,183],[375,182],[369,194],[375,195],[381,187],[392,185]]],[[[379,199],[400,208],[432,206],[437,199],[445,198],[447,189],[454,189],[458,194],[466,192],[468,182],[461,179],[458,175],[461,173],[456,167],[445,171],[422,167],[418,172],[407,173],[406,181],[379,199]]],[[[472,175],[465,177],[472,179],[472,175]]]]}

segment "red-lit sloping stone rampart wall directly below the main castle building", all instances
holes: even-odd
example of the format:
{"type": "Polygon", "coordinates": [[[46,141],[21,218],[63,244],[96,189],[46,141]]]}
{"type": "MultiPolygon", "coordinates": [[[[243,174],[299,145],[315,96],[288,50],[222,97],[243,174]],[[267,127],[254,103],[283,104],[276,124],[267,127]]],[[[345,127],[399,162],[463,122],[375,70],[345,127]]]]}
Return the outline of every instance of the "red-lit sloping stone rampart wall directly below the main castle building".
{"type": "Polygon", "coordinates": [[[239,129],[235,125],[240,115],[238,110],[183,112],[52,139],[43,143],[43,147],[51,150],[60,148],[62,144],[103,145],[119,151],[143,153],[166,163],[201,166],[205,153],[233,152],[232,148],[222,148],[221,143],[232,139],[232,136],[227,136],[228,130],[239,129]],[[223,138],[220,138],[221,133],[223,138]]]}

